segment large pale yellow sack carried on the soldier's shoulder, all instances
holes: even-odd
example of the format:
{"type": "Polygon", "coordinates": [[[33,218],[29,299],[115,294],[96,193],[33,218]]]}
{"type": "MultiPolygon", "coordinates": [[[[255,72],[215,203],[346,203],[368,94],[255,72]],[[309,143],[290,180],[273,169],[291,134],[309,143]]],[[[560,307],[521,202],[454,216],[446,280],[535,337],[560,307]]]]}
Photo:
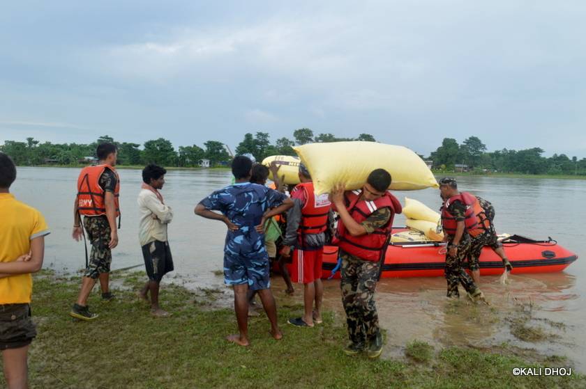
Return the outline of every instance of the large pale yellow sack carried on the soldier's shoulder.
{"type": "Polygon", "coordinates": [[[310,143],[295,146],[307,166],[316,194],[329,193],[333,185],[361,189],[370,172],[383,168],[391,173],[389,189],[410,191],[438,187],[431,170],[408,148],[375,142],[310,143]]]}

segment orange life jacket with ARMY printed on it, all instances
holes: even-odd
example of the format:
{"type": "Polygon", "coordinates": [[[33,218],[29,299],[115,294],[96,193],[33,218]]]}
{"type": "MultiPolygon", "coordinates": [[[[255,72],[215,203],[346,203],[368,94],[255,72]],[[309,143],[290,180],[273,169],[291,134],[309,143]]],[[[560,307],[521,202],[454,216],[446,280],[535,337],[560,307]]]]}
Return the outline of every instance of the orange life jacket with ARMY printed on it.
{"type": "Polygon", "coordinates": [[[119,196],[120,177],[110,165],[87,166],[82,169],[77,177],[77,210],[82,215],[99,216],[106,214],[105,190],[100,186],[100,177],[105,169],[110,169],[116,175],[116,188],[114,189],[114,204],[116,216],[120,216],[119,196]]]}

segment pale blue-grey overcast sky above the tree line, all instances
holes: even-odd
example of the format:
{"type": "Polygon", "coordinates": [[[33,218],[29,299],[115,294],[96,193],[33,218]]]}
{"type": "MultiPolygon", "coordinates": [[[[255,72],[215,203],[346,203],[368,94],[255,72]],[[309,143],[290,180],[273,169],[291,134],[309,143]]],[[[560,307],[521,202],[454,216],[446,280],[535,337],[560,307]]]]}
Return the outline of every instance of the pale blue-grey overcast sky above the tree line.
{"type": "Polygon", "coordinates": [[[294,129],[586,157],[585,1],[8,1],[0,142],[294,129]]]}

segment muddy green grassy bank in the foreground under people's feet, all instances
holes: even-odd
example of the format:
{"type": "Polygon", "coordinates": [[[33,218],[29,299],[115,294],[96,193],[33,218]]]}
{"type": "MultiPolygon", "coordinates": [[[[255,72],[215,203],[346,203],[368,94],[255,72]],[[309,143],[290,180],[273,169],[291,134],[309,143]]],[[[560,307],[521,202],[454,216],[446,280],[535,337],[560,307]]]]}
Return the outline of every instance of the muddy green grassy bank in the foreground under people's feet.
{"type": "MultiPolygon", "coordinates": [[[[134,290],[140,273],[116,274],[117,301],[89,304],[100,312],[91,323],[68,317],[79,277],[43,273],[34,286],[38,338],[30,352],[32,388],[583,388],[586,378],[516,377],[513,367],[566,366],[564,358],[514,356],[506,348],[434,350],[405,344],[405,358],[368,360],[342,352],[345,328],[324,315],[324,324],[287,326],[301,306],[280,306],[285,338],[272,340],[264,317],[250,321],[252,345],[224,340],[232,333],[231,310],[213,308],[210,289],[165,285],[161,301],[173,316],[156,319],[134,290]],[[561,361],[561,362],[560,362],[561,361]]],[[[4,385],[0,379],[0,387],[4,385]]]]}

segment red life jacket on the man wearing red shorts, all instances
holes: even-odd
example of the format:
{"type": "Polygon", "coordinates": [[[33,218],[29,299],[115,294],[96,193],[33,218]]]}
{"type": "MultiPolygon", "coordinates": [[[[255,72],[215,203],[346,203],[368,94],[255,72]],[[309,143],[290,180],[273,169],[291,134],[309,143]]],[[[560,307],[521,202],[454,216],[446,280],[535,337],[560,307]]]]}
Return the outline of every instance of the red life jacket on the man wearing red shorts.
{"type": "Polygon", "coordinates": [[[319,234],[328,226],[328,214],[331,209],[327,195],[315,196],[313,182],[297,184],[293,191],[303,191],[306,203],[301,209],[301,223],[297,235],[319,234]]]}

